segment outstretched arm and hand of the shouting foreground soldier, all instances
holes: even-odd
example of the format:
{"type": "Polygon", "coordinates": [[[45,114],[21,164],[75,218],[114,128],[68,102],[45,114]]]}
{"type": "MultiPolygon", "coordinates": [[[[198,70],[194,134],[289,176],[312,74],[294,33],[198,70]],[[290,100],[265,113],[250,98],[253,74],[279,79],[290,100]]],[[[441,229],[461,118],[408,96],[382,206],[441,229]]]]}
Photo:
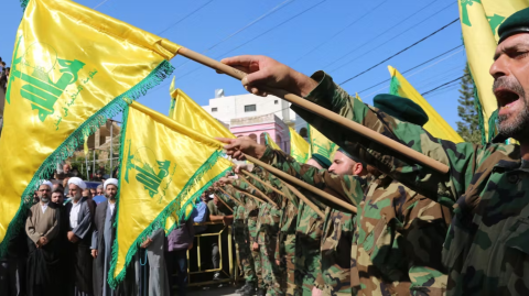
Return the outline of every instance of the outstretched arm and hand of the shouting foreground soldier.
{"type": "Polygon", "coordinates": [[[449,165],[450,173],[442,175],[408,162],[401,155],[391,156],[395,153],[389,147],[374,143],[302,108],[292,107],[311,125],[341,147],[360,154],[368,164],[375,165],[400,183],[444,205],[453,205],[471,185],[475,168],[497,150],[496,145],[454,144],[435,139],[421,127],[398,121],[349,96],[324,72],[316,72],[309,77],[264,56],[237,56],[223,59],[223,63],[248,70],[250,74],[242,79],[242,85],[255,95],[268,95],[259,88],[267,86],[302,96],[449,165]]]}

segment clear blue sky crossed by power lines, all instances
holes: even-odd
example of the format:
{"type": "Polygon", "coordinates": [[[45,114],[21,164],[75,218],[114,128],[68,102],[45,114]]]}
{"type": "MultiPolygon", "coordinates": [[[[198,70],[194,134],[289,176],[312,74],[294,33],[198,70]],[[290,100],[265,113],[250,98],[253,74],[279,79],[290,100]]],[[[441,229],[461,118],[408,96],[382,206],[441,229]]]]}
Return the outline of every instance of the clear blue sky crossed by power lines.
{"type": "MultiPolygon", "coordinates": [[[[306,75],[323,69],[343,83],[417,43],[458,18],[455,0],[77,0],[78,3],[158,34],[215,59],[256,54],[270,56],[306,75]]],[[[22,18],[18,0],[3,0],[0,57],[11,64],[17,28],[22,18]]],[[[389,92],[387,66],[403,73],[447,54],[403,76],[423,94],[463,75],[466,53],[458,21],[418,45],[345,83],[349,94],[373,103],[389,92]],[[455,50],[453,50],[455,48],[455,50]],[[373,87],[373,88],[370,88],[373,87]],[[368,89],[370,88],[370,89],[368,89]],[[365,90],[368,89],[368,90],[365,90]]],[[[246,94],[240,81],[176,56],[176,87],[199,105],[215,89],[226,96],[246,94]]],[[[171,79],[139,101],[168,113],[171,79]]],[[[432,107],[456,129],[460,84],[425,95],[432,107]]]]}

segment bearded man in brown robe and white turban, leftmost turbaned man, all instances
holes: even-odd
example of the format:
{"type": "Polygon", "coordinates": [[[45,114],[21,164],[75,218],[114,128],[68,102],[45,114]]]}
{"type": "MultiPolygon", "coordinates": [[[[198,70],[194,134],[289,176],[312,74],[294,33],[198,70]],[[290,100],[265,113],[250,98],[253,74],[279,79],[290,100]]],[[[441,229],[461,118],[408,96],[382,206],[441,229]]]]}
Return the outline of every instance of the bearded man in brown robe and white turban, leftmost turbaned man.
{"type": "Polygon", "coordinates": [[[31,207],[25,221],[25,233],[29,242],[28,257],[28,295],[53,295],[57,292],[55,276],[52,275],[58,265],[58,233],[61,211],[50,202],[52,183],[45,180],[39,186],[40,201],[31,207]]]}

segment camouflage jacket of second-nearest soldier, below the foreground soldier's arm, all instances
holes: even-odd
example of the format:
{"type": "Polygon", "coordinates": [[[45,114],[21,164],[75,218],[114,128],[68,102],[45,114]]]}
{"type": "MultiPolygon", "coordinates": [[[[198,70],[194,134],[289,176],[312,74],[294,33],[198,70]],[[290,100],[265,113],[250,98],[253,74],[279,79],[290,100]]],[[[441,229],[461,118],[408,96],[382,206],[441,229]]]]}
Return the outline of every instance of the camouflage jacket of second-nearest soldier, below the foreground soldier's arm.
{"type": "Polygon", "coordinates": [[[271,150],[267,150],[263,158],[272,154],[276,154],[273,165],[283,169],[290,166],[291,169],[287,169],[290,174],[295,172],[322,189],[343,188],[343,194],[350,196],[348,199],[355,199],[353,204],[358,205],[355,226],[350,213],[326,210],[321,250],[336,251],[339,243],[344,244],[341,235],[350,237],[352,285],[358,295],[401,295],[409,294],[410,289],[413,294],[444,293],[446,270],[441,248],[450,223],[449,209],[387,176],[371,182],[364,194],[366,182],[361,178],[335,176],[312,166],[296,165],[281,152],[271,150]],[[421,252],[423,249],[429,252],[421,252]]]}

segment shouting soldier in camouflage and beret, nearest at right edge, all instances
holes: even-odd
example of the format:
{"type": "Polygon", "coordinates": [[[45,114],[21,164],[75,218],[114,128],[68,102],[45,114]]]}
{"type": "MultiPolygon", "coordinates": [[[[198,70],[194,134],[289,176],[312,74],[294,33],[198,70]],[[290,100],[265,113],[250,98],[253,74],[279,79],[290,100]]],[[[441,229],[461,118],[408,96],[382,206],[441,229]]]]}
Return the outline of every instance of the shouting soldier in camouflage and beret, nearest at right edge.
{"type": "MultiPolygon", "coordinates": [[[[332,141],[358,153],[381,172],[434,201],[453,207],[454,218],[443,250],[443,261],[449,267],[449,295],[529,293],[528,22],[529,9],[526,9],[500,25],[500,42],[490,68],[499,107],[499,134],[518,140],[520,145],[455,144],[435,139],[420,125],[400,121],[348,96],[324,73],[305,78],[276,64],[272,68],[280,73],[267,69],[271,74],[260,76],[267,81],[278,81],[269,86],[305,96],[449,165],[447,174],[438,173],[336,124],[311,120],[311,124],[319,124],[316,128],[325,131],[332,141]],[[272,79],[271,76],[285,79],[272,79]]],[[[253,89],[251,84],[255,81],[248,78],[245,84],[253,89]]],[[[256,88],[253,92],[260,91],[256,88]]]]}

